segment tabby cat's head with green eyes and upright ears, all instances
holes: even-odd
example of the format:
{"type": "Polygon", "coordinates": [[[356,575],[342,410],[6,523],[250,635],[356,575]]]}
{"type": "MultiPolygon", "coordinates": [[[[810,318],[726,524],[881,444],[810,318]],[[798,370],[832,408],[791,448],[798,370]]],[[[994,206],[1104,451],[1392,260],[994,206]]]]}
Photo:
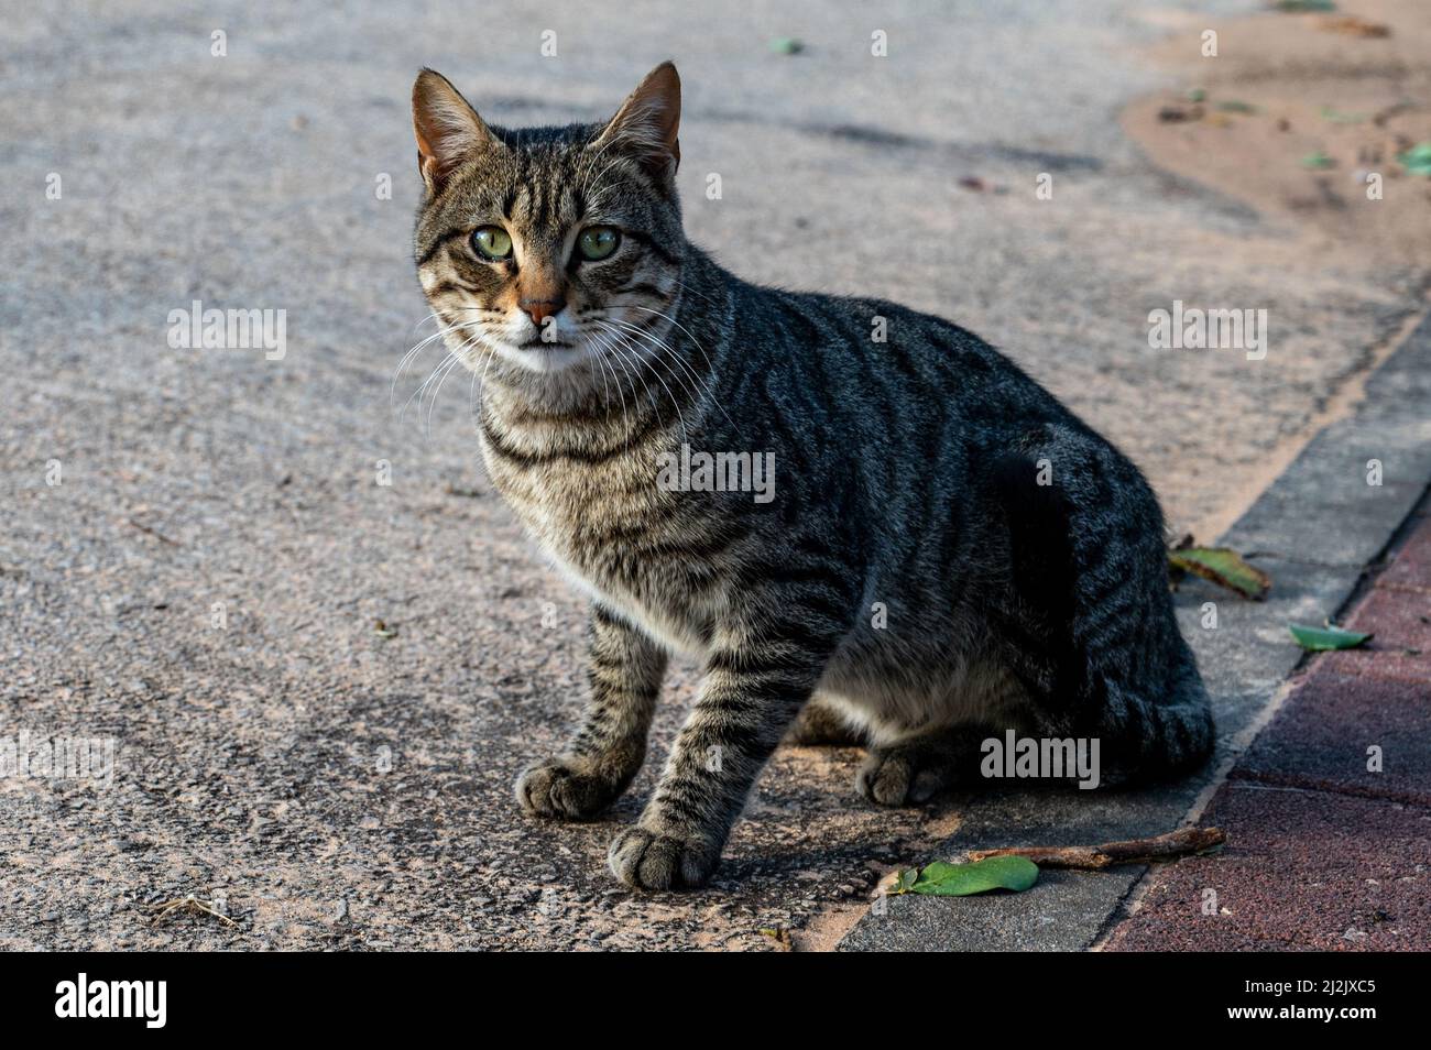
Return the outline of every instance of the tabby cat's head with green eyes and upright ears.
{"type": "Polygon", "coordinates": [[[505,130],[441,74],[412,87],[418,278],[472,369],[592,382],[648,356],[680,290],[681,82],[657,66],[605,123],[505,130]]]}

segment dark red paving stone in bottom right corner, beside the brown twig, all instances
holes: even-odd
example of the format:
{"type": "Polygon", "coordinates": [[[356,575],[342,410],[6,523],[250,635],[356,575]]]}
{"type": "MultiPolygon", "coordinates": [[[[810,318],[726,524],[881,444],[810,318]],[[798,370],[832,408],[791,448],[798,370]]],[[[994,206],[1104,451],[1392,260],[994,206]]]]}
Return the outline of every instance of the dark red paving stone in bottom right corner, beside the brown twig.
{"type": "Polygon", "coordinates": [[[1105,950],[1431,946],[1431,811],[1242,781],[1222,787],[1203,824],[1228,833],[1226,848],[1158,874],[1105,950]]]}

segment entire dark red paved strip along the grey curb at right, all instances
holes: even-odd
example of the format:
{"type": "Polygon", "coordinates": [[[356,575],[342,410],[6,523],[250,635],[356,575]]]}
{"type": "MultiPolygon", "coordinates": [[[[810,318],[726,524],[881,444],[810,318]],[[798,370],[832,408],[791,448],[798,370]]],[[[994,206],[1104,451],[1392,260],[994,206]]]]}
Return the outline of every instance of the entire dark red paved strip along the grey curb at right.
{"type": "Polygon", "coordinates": [[[1431,948],[1431,518],[1345,627],[1377,637],[1315,657],[1213,795],[1228,847],[1153,873],[1106,950],[1431,948]]]}

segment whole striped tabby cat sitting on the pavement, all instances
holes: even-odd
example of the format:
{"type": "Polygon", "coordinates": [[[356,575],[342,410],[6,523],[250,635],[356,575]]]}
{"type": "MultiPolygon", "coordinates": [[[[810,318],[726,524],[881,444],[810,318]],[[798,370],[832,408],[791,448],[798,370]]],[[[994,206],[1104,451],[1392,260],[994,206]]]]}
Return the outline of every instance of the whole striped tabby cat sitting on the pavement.
{"type": "Polygon", "coordinates": [[[528,814],[627,788],[671,652],[703,685],[608,851],[645,890],[710,880],[787,735],[867,745],[880,805],[976,782],[1010,728],[1099,740],[1105,784],[1206,758],[1138,468],[970,332],[750,285],[691,245],[671,63],[605,123],[488,126],[432,70],[412,110],[419,283],[481,378],[487,471],[591,599],[590,698],[518,778],[528,814]]]}

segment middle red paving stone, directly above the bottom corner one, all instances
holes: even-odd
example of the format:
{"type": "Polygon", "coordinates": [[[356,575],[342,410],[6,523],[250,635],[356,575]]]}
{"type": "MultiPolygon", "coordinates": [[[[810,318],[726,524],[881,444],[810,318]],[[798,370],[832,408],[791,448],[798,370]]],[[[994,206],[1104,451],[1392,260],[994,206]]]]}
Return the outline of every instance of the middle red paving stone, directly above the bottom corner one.
{"type": "Polygon", "coordinates": [[[1431,808],[1431,690],[1318,668],[1288,698],[1234,778],[1394,798],[1431,808]],[[1381,771],[1367,768],[1381,748],[1381,771]]]}

